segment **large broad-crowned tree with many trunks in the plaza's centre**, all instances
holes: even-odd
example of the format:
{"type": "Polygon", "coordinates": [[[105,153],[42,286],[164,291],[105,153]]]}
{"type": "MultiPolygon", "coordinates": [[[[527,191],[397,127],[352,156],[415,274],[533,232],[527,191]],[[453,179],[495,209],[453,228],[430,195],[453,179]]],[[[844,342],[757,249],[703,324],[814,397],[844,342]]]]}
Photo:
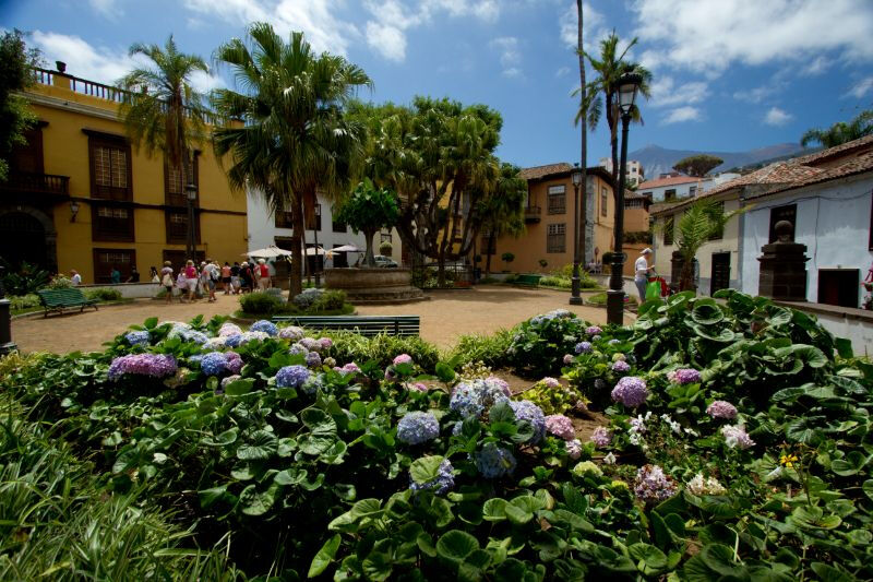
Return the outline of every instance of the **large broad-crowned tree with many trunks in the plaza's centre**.
{"type": "Polygon", "coordinates": [[[368,171],[398,195],[404,244],[435,260],[445,284],[446,263],[470,253],[498,195],[500,114],[416,97],[410,107],[359,105],[355,116],[370,128],[368,171]]]}

